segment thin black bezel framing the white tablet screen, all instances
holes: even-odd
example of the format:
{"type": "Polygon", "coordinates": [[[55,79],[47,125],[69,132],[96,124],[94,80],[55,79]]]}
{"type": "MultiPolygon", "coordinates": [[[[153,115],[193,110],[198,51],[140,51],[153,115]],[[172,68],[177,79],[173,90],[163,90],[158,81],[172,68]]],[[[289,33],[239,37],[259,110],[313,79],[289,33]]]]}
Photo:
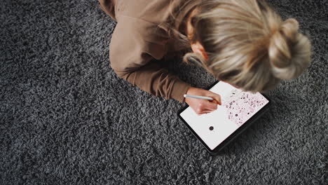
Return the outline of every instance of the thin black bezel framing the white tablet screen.
{"type": "MultiPolygon", "coordinates": [[[[217,83],[219,83],[219,81],[215,81],[212,85],[210,85],[210,87],[206,88],[206,90],[210,90],[210,88],[212,88],[214,85],[216,85],[217,83]]],[[[184,110],[186,110],[189,105],[187,105],[186,107],[184,107],[182,110],[180,110],[178,112],[178,117],[182,120],[182,122],[184,122],[184,125],[186,125],[187,128],[189,128],[189,130],[191,130],[191,132],[193,133],[193,135],[195,135],[197,137],[197,139],[203,144],[203,146],[205,146],[205,148],[207,149],[207,151],[209,151],[211,154],[214,153],[218,153],[219,151],[221,151],[222,149],[224,149],[225,146],[227,146],[230,142],[233,141],[233,139],[235,139],[236,137],[238,137],[238,135],[240,135],[242,132],[244,132],[250,125],[252,125],[252,123],[254,123],[257,118],[261,117],[262,114],[264,114],[267,110],[268,107],[271,105],[271,100],[264,95],[263,93],[261,93],[261,95],[263,95],[264,97],[266,97],[266,100],[268,100],[268,103],[262,107],[259,111],[257,111],[256,114],[254,114],[252,117],[250,117],[246,123],[242,124],[237,130],[235,130],[231,135],[229,135],[226,139],[224,139],[223,142],[221,142],[217,147],[215,147],[214,149],[210,149],[209,146],[207,146],[207,144],[205,144],[205,142],[203,141],[203,139],[201,139],[199,137],[199,135],[195,132],[195,130],[193,130],[191,128],[191,126],[186,123],[186,121],[184,120],[184,118],[182,118],[182,116],[180,114],[182,114],[182,112],[184,110]]]]}

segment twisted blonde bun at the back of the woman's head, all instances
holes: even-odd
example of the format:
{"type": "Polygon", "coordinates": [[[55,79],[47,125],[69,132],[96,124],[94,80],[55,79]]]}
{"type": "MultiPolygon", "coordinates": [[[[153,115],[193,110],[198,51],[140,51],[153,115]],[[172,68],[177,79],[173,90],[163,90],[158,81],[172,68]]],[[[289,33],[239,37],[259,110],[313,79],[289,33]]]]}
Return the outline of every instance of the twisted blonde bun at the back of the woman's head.
{"type": "Polygon", "coordinates": [[[309,56],[310,41],[298,31],[299,22],[289,18],[275,29],[270,38],[268,56],[273,75],[277,78],[296,78],[303,71],[299,69],[304,69],[310,62],[310,58],[304,57],[309,56]]]}

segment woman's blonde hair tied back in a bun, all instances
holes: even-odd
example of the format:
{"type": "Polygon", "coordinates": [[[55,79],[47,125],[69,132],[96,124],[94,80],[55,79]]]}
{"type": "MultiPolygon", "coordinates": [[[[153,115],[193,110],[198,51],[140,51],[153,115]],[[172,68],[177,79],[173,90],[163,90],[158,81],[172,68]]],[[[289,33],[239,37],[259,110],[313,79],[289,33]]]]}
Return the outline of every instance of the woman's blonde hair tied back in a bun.
{"type": "Polygon", "coordinates": [[[170,35],[189,51],[190,43],[199,41],[209,57],[205,60],[196,53],[186,53],[184,62],[196,62],[218,80],[242,90],[271,90],[281,80],[301,75],[310,65],[310,41],[298,32],[299,22],[294,18],[282,21],[265,1],[184,0],[168,22],[172,24],[170,35]],[[183,8],[190,11],[181,15],[183,8]],[[191,18],[189,41],[183,30],[193,8],[198,13],[191,18]]]}

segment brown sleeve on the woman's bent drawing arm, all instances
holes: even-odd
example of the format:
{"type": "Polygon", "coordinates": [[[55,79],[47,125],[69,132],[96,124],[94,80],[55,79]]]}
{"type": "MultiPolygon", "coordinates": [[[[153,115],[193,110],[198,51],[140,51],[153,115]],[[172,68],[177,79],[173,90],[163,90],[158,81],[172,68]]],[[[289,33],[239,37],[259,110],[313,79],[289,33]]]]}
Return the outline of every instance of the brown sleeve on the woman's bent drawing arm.
{"type": "Polygon", "coordinates": [[[151,95],[184,102],[191,85],[153,61],[167,52],[165,40],[168,38],[156,24],[121,15],[109,44],[111,68],[151,95]]]}

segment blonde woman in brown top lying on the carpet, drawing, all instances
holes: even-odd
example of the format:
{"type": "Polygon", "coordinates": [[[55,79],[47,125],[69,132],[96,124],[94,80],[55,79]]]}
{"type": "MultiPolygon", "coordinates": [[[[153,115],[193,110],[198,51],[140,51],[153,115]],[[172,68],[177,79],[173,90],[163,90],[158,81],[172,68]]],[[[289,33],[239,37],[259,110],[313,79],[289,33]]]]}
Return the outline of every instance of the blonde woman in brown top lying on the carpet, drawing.
{"type": "Polygon", "coordinates": [[[298,77],[310,64],[310,41],[299,23],[282,21],[262,0],[100,0],[100,6],[117,22],[109,46],[116,74],[151,95],[186,102],[198,115],[216,110],[220,96],[191,87],[151,60],[180,51],[184,62],[254,93],[298,77]]]}

